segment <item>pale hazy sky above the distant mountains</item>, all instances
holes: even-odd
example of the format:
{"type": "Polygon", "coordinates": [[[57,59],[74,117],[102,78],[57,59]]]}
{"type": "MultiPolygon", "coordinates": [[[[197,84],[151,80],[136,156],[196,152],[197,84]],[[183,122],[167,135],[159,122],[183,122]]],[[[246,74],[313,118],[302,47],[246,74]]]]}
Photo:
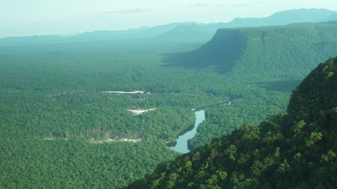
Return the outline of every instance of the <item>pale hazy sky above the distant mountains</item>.
{"type": "Polygon", "coordinates": [[[0,0],[0,37],[230,22],[297,8],[337,10],[337,0],[0,0]]]}

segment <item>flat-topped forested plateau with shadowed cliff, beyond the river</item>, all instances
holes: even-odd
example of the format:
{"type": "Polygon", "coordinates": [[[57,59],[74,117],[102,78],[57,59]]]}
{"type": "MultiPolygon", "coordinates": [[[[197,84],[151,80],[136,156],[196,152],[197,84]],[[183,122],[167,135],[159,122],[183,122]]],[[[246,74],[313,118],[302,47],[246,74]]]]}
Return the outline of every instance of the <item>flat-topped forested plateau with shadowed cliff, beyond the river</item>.
{"type": "Polygon", "coordinates": [[[305,67],[313,69],[317,60],[336,55],[336,30],[337,22],[219,29],[199,49],[168,57],[167,62],[290,78],[291,72],[300,72],[305,67]]]}

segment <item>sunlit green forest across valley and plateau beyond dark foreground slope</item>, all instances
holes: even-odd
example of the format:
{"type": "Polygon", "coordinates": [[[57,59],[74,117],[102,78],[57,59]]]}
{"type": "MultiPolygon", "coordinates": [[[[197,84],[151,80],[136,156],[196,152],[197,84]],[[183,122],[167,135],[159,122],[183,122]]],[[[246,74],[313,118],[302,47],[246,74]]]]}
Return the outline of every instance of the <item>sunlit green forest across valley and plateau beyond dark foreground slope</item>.
{"type": "MultiPolygon", "coordinates": [[[[205,108],[206,121],[190,140],[191,149],[244,123],[258,124],[286,109],[291,90],[317,62],[337,55],[336,28],[321,23],[233,29],[243,39],[264,30],[275,39],[245,41],[227,72],[219,64],[171,62],[201,51],[202,44],[156,38],[1,46],[0,188],[125,187],[181,155],[166,142],[193,125],[192,108],[216,104],[205,108]],[[282,38],[277,32],[283,30],[282,38]],[[320,37],[308,43],[310,35],[320,37]],[[299,38],[301,46],[285,38],[299,38]],[[323,55],[305,53],[314,44],[323,55]]],[[[219,44],[218,53],[229,49],[219,44]]]]}

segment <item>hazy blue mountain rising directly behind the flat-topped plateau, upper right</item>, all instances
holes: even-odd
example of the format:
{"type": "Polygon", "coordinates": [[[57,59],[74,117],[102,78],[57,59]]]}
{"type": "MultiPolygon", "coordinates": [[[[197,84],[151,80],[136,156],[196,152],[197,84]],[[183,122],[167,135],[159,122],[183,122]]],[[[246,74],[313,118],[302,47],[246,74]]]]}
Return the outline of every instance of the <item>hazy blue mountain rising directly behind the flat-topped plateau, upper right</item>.
{"type": "Polygon", "coordinates": [[[292,23],[315,23],[337,21],[337,12],[327,9],[294,9],[277,12],[265,18],[236,18],[229,23],[212,23],[207,25],[192,24],[177,26],[158,38],[171,41],[206,42],[218,28],[261,27],[287,25],[292,23]]]}

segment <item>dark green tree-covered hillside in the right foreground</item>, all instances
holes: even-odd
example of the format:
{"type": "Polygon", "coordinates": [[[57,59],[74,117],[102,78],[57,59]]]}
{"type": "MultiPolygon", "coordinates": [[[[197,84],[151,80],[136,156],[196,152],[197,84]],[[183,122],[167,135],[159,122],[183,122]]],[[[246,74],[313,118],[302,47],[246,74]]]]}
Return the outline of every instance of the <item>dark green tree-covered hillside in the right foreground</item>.
{"type": "Polygon", "coordinates": [[[293,91],[287,112],[161,163],[128,189],[336,189],[337,57],[293,91]]]}

